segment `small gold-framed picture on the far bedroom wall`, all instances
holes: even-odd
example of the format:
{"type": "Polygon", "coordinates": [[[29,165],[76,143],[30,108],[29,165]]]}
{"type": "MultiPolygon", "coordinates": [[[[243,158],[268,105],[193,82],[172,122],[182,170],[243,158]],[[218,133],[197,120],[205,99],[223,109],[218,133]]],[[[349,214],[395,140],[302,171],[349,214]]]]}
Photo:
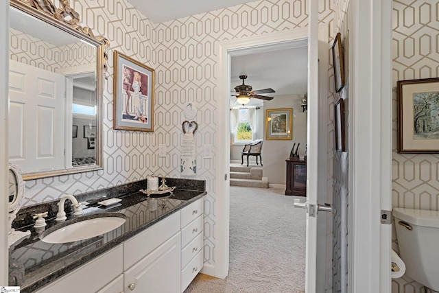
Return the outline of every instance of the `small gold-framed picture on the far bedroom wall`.
{"type": "Polygon", "coordinates": [[[265,117],[266,139],[293,139],[293,109],[267,109],[265,117]]]}

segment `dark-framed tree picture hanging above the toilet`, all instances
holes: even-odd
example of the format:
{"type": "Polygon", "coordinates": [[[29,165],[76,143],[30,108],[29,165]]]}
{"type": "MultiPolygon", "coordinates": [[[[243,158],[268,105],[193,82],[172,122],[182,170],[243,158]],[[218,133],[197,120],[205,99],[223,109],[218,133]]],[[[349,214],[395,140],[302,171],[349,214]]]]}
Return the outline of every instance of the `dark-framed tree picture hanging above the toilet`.
{"type": "Polygon", "coordinates": [[[439,78],[400,80],[398,152],[439,153],[439,78]]]}

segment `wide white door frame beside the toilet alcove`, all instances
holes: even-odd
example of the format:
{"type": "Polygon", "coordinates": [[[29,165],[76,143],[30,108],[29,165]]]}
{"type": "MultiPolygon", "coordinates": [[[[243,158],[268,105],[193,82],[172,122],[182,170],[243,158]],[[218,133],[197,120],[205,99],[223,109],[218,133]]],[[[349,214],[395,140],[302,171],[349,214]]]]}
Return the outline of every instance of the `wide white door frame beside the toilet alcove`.
{"type": "Polygon", "coordinates": [[[348,292],[391,292],[392,1],[349,5],[348,292]]]}

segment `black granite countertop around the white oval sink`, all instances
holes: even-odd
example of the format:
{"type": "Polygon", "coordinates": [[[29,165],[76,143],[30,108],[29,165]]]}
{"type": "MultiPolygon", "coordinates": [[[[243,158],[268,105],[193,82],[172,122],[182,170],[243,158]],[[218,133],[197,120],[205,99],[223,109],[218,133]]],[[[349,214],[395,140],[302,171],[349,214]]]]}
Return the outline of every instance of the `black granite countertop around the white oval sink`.
{"type": "MultiPolygon", "coordinates": [[[[95,218],[97,214],[104,215],[104,213],[108,215],[123,214],[120,216],[126,217],[126,222],[119,228],[97,237],[64,244],[45,243],[40,240],[41,235],[47,235],[59,226],[65,226],[64,223],[66,223],[61,222],[58,224],[53,218],[46,221],[47,226],[42,233],[37,233],[33,226],[17,229],[20,231],[29,230],[31,235],[10,248],[10,279],[11,275],[22,273],[24,268],[24,281],[16,285],[21,287],[23,293],[34,292],[206,194],[203,180],[167,178],[167,185],[169,187],[176,186],[177,188],[174,189],[173,194],[162,197],[146,196],[137,189],[139,185],[130,186],[128,192],[127,188],[123,189],[119,186],[93,191],[88,194],[75,195],[78,201],[90,203],[82,206],[84,209],[82,215],[73,216],[70,214],[67,216],[66,222],[79,222],[80,220],[95,218]],[[176,185],[169,184],[168,181],[176,183],[176,185]],[[187,184],[188,182],[189,184],[187,184]],[[196,190],[191,190],[194,187],[191,184],[193,182],[195,182],[196,190]],[[121,192],[121,190],[125,192],[121,192]],[[134,192],[131,193],[130,191],[134,192]],[[121,202],[109,207],[97,204],[105,198],[121,198],[121,202]]],[[[22,278],[18,277],[17,279],[22,278]]]]}

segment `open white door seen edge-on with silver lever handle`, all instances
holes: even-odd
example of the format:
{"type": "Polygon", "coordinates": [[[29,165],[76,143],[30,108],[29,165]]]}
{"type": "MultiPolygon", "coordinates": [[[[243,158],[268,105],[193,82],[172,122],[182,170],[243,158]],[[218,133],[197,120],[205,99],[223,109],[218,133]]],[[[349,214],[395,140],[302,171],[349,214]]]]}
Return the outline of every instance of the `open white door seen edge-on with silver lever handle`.
{"type": "MultiPolygon", "coordinates": [[[[326,73],[324,68],[319,74],[320,66],[328,64],[327,60],[327,27],[318,26],[318,2],[309,3],[309,38],[308,38],[308,133],[307,133],[307,202],[295,200],[296,207],[307,209],[306,237],[306,274],[305,292],[325,292],[327,284],[327,268],[331,268],[332,255],[326,255],[327,212],[331,207],[326,203],[326,170],[327,170],[327,124],[326,73]],[[320,34],[319,34],[320,32],[320,34]],[[319,38],[320,37],[320,38],[319,38]],[[319,54],[319,40],[322,40],[319,54]],[[325,51],[326,50],[326,51],[325,51]],[[320,75],[320,80],[319,80],[320,75]],[[319,125],[320,124],[320,125],[319,125]],[[320,126],[320,127],[319,127],[320,126]],[[320,141],[319,141],[320,138],[320,141]],[[322,205],[319,205],[319,202],[322,205]]],[[[330,219],[331,217],[329,217],[330,219]]]]}

